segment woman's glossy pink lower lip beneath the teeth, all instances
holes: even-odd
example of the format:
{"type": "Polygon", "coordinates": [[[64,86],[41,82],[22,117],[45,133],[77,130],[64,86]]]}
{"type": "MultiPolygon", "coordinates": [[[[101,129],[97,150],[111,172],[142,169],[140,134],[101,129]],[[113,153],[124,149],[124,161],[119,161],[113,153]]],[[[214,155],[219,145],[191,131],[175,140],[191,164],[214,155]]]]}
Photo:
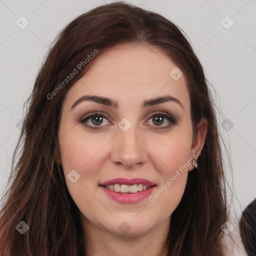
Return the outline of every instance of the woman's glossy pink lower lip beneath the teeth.
{"type": "Polygon", "coordinates": [[[133,203],[133,202],[141,201],[141,200],[145,199],[146,197],[148,197],[152,193],[153,189],[156,186],[154,185],[145,190],[138,191],[136,193],[129,193],[129,194],[122,194],[122,193],[115,192],[113,190],[109,190],[108,188],[106,188],[103,185],[100,185],[100,187],[105,191],[105,193],[110,198],[112,198],[113,200],[115,200],[117,202],[133,203]]]}

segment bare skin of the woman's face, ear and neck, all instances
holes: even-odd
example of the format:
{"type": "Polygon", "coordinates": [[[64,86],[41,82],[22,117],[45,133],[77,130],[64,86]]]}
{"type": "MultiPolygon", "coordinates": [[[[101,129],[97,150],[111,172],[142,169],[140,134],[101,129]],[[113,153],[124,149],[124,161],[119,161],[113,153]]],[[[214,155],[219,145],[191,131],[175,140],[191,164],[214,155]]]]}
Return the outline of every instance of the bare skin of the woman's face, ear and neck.
{"type": "MultiPolygon", "coordinates": [[[[185,76],[174,80],[169,75],[175,66],[155,46],[114,47],[97,56],[89,71],[66,94],[58,132],[61,164],[69,193],[80,210],[87,255],[166,255],[161,249],[170,216],[183,195],[192,164],[154,202],[148,198],[136,203],[116,202],[99,183],[116,177],[140,177],[157,185],[154,194],[189,157],[201,151],[207,123],[201,120],[192,139],[185,76]],[[70,110],[82,95],[108,97],[119,105],[114,108],[82,101],[70,110]],[[172,101],[141,108],[143,100],[165,95],[177,98],[183,108],[172,101]],[[94,111],[109,117],[103,118],[98,130],[79,122],[94,111]],[[157,111],[174,116],[177,123],[160,129],[169,121],[164,119],[157,126],[155,117],[150,118],[157,111]],[[118,127],[124,117],[131,123],[127,131],[118,127]],[[74,183],[67,178],[72,169],[80,174],[74,183]],[[123,221],[130,228],[126,233],[118,228],[123,221]]],[[[86,124],[95,127],[92,119],[86,124]]]]}

